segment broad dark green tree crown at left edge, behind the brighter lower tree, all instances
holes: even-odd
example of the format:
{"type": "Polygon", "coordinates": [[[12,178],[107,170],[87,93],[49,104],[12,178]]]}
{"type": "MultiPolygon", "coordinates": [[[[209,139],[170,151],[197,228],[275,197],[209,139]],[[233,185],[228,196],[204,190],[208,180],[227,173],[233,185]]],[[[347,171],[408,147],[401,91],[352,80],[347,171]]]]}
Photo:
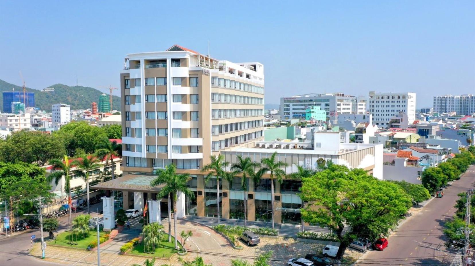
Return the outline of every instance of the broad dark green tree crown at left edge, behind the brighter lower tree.
{"type": "Polygon", "coordinates": [[[18,131],[0,142],[0,161],[28,162],[45,165],[50,159],[61,158],[66,150],[63,142],[39,131],[18,131]]]}

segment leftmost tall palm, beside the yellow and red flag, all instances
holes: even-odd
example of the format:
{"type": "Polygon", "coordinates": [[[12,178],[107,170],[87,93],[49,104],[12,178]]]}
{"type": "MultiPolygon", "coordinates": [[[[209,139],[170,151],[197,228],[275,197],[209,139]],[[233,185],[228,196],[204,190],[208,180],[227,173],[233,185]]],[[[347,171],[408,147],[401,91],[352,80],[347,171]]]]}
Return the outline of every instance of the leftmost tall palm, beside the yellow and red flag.
{"type": "Polygon", "coordinates": [[[77,164],[77,161],[71,161],[69,162],[69,158],[67,158],[67,155],[64,156],[64,161],[61,161],[59,159],[53,159],[49,161],[52,165],[53,172],[47,176],[46,181],[48,183],[51,183],[53,180],[55,181],[55,184],[57,185],[59,181],[64,177],[64,190],[67,193],[68,196],[68,205],[69,205],[69,229],[71,229],[71,175],[69,175],[69,171],[71,171],[71,168],[75,167],[77,164]]]}

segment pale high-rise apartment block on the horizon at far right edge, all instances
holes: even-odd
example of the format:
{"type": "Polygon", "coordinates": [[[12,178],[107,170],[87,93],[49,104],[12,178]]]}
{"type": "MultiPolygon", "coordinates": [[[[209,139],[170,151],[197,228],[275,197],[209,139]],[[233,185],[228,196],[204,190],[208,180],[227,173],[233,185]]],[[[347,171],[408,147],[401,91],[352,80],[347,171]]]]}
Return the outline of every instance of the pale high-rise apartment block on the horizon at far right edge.
{"type": "Polygon", "coordinates": [[[461,115],[475,113],[475,95],[442,95],[434,96],[435,113],[456,112],[461,115]]]}

